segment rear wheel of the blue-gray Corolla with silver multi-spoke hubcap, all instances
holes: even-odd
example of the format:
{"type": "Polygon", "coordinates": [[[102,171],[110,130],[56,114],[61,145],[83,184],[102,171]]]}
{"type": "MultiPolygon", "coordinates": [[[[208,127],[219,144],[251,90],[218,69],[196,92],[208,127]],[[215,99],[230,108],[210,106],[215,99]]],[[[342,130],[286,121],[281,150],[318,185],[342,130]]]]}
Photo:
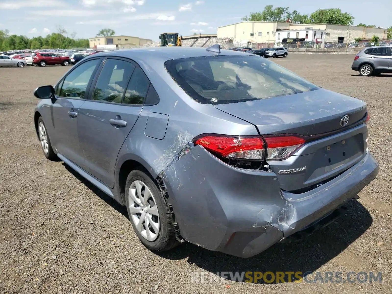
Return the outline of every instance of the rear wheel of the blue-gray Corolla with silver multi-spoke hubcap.
{"type": "Polygon", "coordinates": [[[178,245],[165,196],[145,172],[134,170],[129,173],[125,202],[132,227],[145,247],[163,252],[178,245]]]}

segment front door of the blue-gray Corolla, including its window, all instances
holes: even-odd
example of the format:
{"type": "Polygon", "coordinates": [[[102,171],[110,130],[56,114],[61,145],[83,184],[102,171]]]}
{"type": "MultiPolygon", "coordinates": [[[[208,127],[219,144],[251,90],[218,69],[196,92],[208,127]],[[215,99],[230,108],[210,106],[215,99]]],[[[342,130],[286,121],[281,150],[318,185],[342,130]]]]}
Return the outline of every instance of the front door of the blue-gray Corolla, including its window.
{"type": "Polygon", "coordinates": [[[74,67],[56,87],[55,101],[51,105],[52,144],[60,154],[78,166],[84,162],[78,141],[79,109],[85,102],[85,95],[101,61],[101,58],[95,58],[74,67]]]}

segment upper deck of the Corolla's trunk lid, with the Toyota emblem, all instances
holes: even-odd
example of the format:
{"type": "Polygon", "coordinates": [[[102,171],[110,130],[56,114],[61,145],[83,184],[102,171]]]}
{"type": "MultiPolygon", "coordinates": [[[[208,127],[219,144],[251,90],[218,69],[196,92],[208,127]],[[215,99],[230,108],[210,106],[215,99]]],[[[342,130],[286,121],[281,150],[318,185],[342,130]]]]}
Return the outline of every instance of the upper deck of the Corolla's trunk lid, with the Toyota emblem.
{"type": "Polygon", "coordinates": [[[214,106],[252,123],[260,134],[295,133],[303,136],[341,129],[340,120],[346,114],[349,121],[345,127],[348,127],[367,112],[365,102],[325,89],[214,106]]]}

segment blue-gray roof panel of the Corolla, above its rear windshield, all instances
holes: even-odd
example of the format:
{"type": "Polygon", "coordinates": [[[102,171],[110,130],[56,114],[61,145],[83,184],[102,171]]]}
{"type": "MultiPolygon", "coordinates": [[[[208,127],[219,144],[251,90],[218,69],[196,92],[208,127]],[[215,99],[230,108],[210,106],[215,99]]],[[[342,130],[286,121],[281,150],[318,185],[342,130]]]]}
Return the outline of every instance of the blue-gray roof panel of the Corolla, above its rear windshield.
{"type": "MultiPolygon", "coordinates": [[[[134,48],[125,50],[114,50],[93,54],[94,56],[117,56],[124,58],[137,58],[143,59],[144,62],[148,62],[151,59],[179,59],[179,58],[190,58],[190,57],[202,57],[202,56],[216,56],[217,53],[207,51],[207,48],[200,47],[147,47],[147,48],[134,48]]],[[[219,55],[241,55],[238,51],[221,49],[219,55]]]]}

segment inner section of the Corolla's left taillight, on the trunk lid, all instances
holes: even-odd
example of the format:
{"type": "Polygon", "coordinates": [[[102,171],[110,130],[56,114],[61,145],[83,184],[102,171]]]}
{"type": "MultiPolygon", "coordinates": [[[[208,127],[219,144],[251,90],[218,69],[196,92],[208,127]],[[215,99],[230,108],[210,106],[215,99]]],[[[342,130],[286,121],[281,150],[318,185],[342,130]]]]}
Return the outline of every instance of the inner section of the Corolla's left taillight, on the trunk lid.
{"type": "Polygon", "coordinates": [[[297,136],[265,136],[267,142],[267,160],[283,160],[305,143],[297,136]]]}

